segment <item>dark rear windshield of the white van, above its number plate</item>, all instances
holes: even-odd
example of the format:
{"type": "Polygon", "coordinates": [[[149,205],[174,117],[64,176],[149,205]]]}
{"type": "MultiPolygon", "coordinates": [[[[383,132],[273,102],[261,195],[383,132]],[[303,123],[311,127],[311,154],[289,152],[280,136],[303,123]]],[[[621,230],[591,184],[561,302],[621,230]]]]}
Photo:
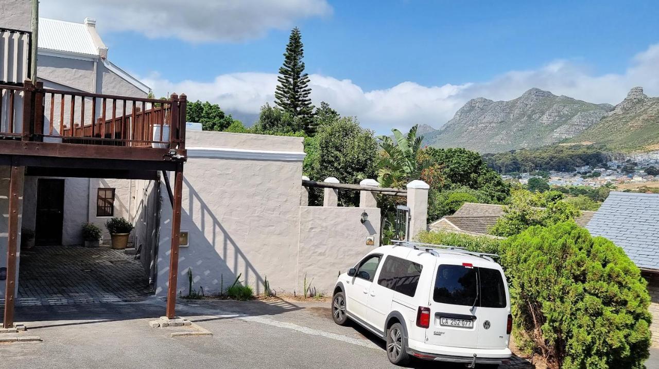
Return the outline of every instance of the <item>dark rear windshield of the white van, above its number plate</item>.
{"type": "Polygon", "coordinates": [[[440,265],[433,292],[435,302],[471,307],[476,297],[477,307],[506,307],[505,285],[501,272],[491,268],[440,265]]]}

